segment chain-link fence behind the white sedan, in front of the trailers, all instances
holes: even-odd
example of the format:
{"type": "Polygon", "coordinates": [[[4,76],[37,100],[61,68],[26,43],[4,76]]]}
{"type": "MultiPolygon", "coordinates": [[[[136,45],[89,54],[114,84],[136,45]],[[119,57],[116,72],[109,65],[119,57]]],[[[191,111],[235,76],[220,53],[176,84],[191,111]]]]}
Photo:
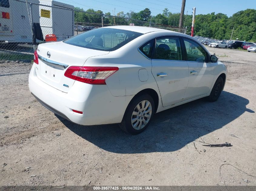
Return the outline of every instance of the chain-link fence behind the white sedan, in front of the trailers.
{"type": "Polygon", "coordinates": [[[26,3],[21,0],[1,0],[0,11],[1,67],[9,60],[31,61],[34,49],[39,43],[45,42],[47,34],[55,34],[57,41],[62,41],[91,29],[115,25],[156,27],[186,32],[185,28],[78,11],[72,5],[55,1],[28,0],[26,3]],[[32,35],[38,34],[36,23],[40,24],[39,27],[42,29],[43,35],[40,40],[33,38],[32,35]]]}

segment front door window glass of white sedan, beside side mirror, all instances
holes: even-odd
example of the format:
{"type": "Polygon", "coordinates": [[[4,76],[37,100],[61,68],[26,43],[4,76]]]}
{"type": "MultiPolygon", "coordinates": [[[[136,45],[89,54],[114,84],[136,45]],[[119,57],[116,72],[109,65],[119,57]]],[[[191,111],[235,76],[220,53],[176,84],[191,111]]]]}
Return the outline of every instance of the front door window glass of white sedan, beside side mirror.
{"type": "Polygon", "coordinates": [[[204,49],[192,40],[184,39],[185,49],[187,52],[187,60],[195,62],[206,62],[207,53],[204,49]]]}

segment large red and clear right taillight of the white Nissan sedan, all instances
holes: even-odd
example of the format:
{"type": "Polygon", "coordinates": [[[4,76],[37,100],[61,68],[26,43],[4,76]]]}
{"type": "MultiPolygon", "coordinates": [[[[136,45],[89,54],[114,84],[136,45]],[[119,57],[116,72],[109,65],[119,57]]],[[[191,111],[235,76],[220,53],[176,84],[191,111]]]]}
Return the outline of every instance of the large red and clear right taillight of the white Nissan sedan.
{"type": "Polygon", "coordinates": [[[118,69],[118,67],[103,66],[70,66],[64,75],[87,84],[106,84],[106,78],[118,69]]]}

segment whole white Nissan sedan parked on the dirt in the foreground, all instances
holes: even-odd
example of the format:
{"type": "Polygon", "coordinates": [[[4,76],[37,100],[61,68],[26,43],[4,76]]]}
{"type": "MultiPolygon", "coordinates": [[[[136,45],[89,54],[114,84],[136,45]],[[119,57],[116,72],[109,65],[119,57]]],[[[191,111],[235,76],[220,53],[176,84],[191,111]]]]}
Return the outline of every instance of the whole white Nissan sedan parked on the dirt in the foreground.
{"type": "Polygon", "coordinates": [[[29,89],[43,106],[74,123],[119,123],[138,134],[154,113],[202,97],[216,101],[226,78],[225,65],[193,37],[113,26],[40,44],[29,89]]]}

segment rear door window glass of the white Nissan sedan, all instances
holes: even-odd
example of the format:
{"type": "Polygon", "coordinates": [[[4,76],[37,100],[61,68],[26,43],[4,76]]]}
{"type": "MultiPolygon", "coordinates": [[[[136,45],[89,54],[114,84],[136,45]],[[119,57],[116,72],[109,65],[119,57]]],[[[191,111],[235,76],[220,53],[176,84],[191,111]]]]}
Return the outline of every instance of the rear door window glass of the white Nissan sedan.
{"type": "Polygon", "coordinates": [[[178,37],[158,37],[153,59],[182,60],[181,44],[178,37]]]}

